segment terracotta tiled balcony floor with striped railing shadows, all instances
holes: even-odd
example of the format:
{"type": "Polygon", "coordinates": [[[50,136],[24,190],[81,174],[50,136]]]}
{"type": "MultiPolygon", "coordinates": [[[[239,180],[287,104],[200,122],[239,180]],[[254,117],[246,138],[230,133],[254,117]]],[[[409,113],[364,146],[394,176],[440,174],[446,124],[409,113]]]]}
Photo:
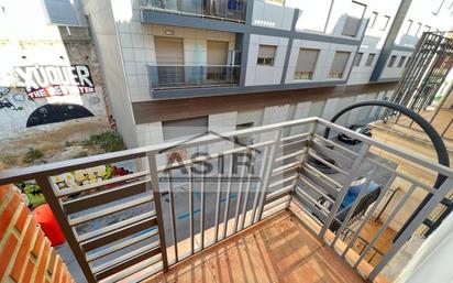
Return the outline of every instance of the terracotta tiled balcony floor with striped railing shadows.
{"type": "Polygon", "coordinates": [[[295,215],[286,211],[145,282],[365,281],[295,215]]]}

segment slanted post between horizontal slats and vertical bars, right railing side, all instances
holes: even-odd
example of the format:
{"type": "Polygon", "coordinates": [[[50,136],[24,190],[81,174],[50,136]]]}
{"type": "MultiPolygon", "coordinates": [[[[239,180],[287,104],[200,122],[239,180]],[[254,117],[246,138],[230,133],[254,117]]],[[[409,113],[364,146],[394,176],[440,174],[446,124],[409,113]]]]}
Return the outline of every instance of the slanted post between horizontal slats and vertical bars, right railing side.
{"type": "Polygon", "coordinates": [[[358,167],[361,166],[363,160],[365,159],[366,154],[369,151],[369,144],[364,143],[362,145],[362,149],[358,151],[358,155],[355,159],[354,163],[352,164],[352,167],[350,170],[350,174],[347,174],[346,179],[344,181],[344,184],[340,191],[340,194],[338,195],[335,203],[333,204],[332,210],[330,211],[328,219],[325,220],[324,225],[321,228],[321,231],[319,236],[324,239],[325,232],[328,231],[333,218],[335,217],[336,211],[339,210],[341,203],[343,202],[344,196],[347,193],[347,189],[351,186],[352,181],[357,176],[357,171],[358,167]]]}

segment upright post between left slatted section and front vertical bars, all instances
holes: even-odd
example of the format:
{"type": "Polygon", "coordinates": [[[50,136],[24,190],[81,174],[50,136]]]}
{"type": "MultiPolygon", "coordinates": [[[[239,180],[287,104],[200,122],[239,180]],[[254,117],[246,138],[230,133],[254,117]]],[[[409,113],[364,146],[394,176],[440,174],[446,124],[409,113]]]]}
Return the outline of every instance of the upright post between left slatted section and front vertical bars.
{"type": "Polygon", "coordinates": [[[165,241],[165,227],[164,227],[164,217],[162,214],[161,187],[159,187],[158,174],[157,174],[156,154],[155,152],[147,152],[146,157],[147,157],[148,165],[150,165],[151,189],[153,191],[154,207],[156,210],[162,263],[164,265],[164,270],[168,270],[167,244],[165,241]]]}

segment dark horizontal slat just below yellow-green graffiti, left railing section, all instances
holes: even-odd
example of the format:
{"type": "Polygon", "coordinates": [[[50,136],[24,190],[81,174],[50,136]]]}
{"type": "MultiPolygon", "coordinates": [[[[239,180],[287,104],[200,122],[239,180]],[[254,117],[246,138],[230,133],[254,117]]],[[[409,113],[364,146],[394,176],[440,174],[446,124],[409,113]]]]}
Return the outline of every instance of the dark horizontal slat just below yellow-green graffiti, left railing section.
{"type": "Polygon", "coordinates": [[[134,181],[114,188],[85,195],[63,203],[67,215],[146,192],[150,178],[134,181]]]}

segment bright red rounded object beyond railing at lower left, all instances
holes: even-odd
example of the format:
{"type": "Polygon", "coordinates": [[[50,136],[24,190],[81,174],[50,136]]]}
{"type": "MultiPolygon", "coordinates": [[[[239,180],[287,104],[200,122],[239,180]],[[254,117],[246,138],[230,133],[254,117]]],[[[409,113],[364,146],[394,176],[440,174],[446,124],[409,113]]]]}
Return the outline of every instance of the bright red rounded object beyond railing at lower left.
{"type": "Polygon", "coordinates": [[[51,207],[47,204],[40,205],[33,210],[34,220],[41,225],[45,236],[51,240],[52,247],[59,246],[65,242],[65,236],[59,228],[51,207]]]}

